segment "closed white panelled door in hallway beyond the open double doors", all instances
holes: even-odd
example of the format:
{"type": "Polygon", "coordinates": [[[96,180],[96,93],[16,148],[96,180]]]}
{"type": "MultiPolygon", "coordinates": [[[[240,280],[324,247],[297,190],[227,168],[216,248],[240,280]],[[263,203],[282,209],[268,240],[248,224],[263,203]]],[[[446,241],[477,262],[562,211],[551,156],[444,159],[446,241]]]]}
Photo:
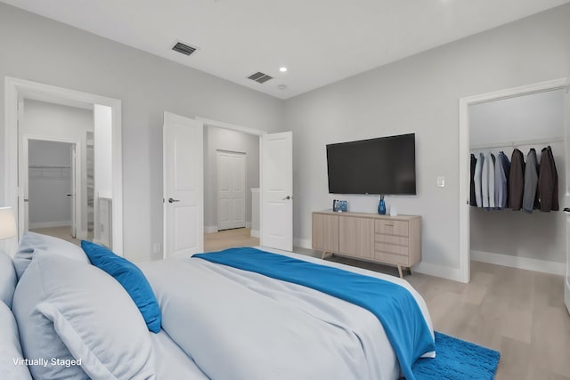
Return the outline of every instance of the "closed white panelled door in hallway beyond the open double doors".
{"type": "Polygon", "coordinates": [[[246,226],[246,155],[217,150],[217,229],[246,226]]]}

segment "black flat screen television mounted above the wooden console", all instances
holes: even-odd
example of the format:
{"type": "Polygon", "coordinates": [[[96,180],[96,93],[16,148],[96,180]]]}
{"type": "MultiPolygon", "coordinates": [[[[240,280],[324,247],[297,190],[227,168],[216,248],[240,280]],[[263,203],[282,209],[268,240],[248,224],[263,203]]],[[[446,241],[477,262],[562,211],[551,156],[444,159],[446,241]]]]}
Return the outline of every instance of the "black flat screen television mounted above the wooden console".
{"type": "Polygon", "coordinates": [[[331,194],[416,194],[415,133],[327,145],[331,194]]]}

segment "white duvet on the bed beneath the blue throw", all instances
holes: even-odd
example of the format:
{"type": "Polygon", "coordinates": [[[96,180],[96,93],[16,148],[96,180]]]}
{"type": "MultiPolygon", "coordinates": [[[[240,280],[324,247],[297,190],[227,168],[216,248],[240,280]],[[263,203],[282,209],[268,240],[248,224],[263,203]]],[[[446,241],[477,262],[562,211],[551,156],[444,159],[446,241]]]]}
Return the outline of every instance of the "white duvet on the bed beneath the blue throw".
{"type": "MultiPolygon", "coordinates": [[[[425,302],[405,280],[273,252],[408,288],[433,334],[425,302]]],[[[213,380],[382,380],[400,375],[379,320],[352,303],[200,259],[140,266],[159,300],[163,329],[213,380]]]]}

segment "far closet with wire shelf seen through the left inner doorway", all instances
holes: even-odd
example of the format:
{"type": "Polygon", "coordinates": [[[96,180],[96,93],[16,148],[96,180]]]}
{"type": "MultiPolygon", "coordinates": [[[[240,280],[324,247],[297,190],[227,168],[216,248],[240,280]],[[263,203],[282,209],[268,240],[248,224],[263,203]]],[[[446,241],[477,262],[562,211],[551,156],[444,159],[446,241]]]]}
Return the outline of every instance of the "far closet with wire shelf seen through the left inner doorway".
{"type": "Polygon", "coordinates": [[[70,226],[71,144],[30,140],[28,165],[28,227],[70,226]]]}

